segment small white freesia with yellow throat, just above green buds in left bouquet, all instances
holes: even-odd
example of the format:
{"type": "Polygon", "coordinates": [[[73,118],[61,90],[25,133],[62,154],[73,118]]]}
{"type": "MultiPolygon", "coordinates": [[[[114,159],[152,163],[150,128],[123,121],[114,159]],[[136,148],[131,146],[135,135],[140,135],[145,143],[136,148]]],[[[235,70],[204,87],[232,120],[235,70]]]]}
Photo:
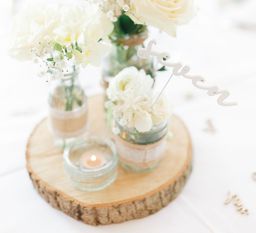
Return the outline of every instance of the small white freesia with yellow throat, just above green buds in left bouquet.
{"type": "Polygon", "coordinates": [[[56,35],[54,40],[60,45],[68,45],[76,38],[73,28],[68,24],[61,24],[53,33],[56,35]]]}

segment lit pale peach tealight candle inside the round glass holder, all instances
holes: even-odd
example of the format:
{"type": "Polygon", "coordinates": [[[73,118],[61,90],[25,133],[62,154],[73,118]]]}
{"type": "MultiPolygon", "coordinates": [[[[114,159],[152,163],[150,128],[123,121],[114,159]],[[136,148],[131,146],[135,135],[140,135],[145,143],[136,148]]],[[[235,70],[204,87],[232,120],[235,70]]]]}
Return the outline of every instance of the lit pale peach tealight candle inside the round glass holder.
{"type": "Polygon", "coordinates": [[[80,163],[89,169],[102,167],[106,164],[106,156],[99,150],[88,150],[81,155],[80,163]]]}

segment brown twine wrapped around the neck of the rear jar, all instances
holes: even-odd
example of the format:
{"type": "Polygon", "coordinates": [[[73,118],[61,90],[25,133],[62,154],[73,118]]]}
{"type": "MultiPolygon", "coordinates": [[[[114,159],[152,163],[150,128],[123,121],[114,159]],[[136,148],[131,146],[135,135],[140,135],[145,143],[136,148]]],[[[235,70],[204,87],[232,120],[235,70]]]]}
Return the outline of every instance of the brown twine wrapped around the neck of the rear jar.
{"type": "Polygon", "coordinates": [[[123,46],[133,47],[141,45],[148,38],[148,30],[146,29],[142,33],[115,35],[111,38],[111,42],[116,45],[122,44],[123,46]],[[118,39],[120,38],[120,39],[118,39]]]}

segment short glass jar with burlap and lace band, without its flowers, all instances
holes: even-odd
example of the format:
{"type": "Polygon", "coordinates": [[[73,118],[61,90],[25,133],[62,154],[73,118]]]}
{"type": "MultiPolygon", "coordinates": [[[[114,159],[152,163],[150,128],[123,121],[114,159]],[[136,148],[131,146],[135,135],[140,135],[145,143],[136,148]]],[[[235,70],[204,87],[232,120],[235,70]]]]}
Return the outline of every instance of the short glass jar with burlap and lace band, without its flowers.
{"type": "Polygon", "coordinates": [[[135,172],[155,168],[164,156],[169,121],[153,126],[148,132],[138,133],[135,129],[116,125],[120,133],[115,142],[120,164],[135,172]]]}

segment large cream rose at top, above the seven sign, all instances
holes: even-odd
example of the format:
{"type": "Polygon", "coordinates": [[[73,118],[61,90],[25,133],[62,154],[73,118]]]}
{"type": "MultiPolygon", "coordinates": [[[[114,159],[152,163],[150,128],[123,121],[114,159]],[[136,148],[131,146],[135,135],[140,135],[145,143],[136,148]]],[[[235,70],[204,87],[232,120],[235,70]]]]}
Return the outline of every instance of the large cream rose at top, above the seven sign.
{"type": "Polygon", "coordinates": [[[194,0],[130,0],[127,15],[137,24],[159,28],[176,36],[176,27],[187,24],[195,15],[194,0]]]}

